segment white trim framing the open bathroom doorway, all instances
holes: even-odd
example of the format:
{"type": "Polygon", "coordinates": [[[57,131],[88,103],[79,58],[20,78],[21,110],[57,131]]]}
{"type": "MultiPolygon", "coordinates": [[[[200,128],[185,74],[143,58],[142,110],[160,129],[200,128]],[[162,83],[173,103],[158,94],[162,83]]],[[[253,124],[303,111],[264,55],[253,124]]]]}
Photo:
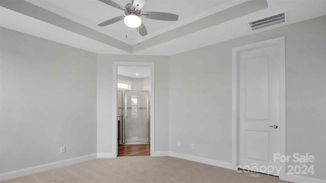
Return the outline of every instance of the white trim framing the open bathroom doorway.
{"type": "Polygon", "coordinates": [[[155,72],[154,72],[154,63],[152,62],[113,62],[113,92],[112,92],[112,123],[113,123],[113,131],[112,131],[112,155],[113,157],[117,157],[118,152],[118,127],[117,127],[117,81],[118,81],[118,70],[117,66],[147,66],[150,67],[151,70],[151,110],[150,110],[150,143],[151,143],[151,156],[154,156],[155,152],[155,72]]]}

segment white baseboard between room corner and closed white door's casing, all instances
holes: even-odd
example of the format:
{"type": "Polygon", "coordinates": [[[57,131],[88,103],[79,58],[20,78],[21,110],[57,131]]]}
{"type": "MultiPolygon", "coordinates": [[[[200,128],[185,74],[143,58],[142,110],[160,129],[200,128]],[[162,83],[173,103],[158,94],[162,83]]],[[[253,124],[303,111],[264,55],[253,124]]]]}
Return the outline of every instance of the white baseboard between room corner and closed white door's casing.
{"type": "Polygon", "coordinates": [[[222,167],[222,168],[227,168],[227,169],[231,169],[231,170],[235,170],[232,163],[229,163],[229,162],[223,162],[223,161],[212,160],[212,159],[202,158],[202,157],[193,156],[193,155],[176,153],[176,152],[173,152],[173,151],[169,151],[169,156],[184,159],[184,160],[204,163],[204,164],[208,164],[208,165],[218,166],[218,167],[222,167]]]}

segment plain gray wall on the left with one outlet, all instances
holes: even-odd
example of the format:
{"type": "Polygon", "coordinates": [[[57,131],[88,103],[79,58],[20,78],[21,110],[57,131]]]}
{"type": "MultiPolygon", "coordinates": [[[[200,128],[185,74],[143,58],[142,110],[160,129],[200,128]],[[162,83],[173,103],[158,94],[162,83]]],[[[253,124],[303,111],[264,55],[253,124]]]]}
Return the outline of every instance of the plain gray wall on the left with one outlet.
{"type": "Polygon", "coordinates": [[[6,28],[0,37],[0,172],[96,153],[96,54],[6,28]]]}

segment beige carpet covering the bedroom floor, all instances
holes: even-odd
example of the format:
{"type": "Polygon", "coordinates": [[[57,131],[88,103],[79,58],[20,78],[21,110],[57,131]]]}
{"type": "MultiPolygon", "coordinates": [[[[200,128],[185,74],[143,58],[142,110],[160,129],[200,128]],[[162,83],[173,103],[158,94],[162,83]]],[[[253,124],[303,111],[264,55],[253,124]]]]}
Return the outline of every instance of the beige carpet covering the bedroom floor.
{"type": "MultiPolygon", "coordinates": [[[[255,173],[257,174],[257,173],[255,173]]],[[[96,159],[6,182],[285,182],[172,157],[96,159]]]]}

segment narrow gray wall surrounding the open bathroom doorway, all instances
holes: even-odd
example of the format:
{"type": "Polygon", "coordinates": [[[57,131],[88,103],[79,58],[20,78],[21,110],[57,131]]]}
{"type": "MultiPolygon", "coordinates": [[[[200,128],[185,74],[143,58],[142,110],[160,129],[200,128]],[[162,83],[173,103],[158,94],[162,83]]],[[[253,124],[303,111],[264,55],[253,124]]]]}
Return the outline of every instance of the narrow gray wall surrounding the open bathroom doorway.
{"type": "Polygon", "coordinates": [[[97,55],[97,153],[112,153],[113,62],[155,63],[155,151],[169,149],[168,57],[97,55]]]}

